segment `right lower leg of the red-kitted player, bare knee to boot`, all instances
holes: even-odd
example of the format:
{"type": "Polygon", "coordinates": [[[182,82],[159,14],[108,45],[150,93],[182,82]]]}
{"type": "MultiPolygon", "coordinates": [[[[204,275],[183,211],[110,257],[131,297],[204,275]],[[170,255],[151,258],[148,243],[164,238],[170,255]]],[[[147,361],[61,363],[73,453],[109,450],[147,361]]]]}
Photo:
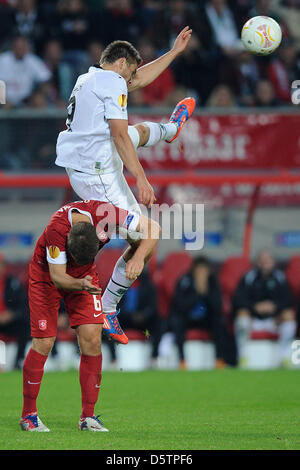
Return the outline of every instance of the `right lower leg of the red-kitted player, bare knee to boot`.
{"type": "Polygon", "coordinates": [[[78,423],[81,431],[107,432],[99,416],[95,415],[102,378],[101,335],[102,325],[80,325],[76,328],[81,350],[79,381],[82,411],[78,423]]]}

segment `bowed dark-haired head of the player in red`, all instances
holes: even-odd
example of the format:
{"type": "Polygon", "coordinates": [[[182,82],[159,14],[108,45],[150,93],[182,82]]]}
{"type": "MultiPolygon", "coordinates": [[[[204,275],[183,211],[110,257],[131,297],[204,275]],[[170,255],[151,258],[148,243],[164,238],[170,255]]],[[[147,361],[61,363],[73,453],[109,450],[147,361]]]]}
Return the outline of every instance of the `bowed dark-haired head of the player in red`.
{"type": "Polygon", "coordinates": [[[89,222],[73,225],[68,235],[68,251],[77,264],[84,265],[94,261],[99,250],[96,228],[89,222]]]}

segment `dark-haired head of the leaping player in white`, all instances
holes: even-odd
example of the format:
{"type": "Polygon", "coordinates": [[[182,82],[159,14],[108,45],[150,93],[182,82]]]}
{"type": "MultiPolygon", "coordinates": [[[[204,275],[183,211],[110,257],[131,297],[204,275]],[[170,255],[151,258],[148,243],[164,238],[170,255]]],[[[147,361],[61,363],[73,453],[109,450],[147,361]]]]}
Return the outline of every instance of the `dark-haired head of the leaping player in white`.
{"type": "Polygon", "coordinates": [[[111,42],[102,52],[101,66],[114,67],[127,82],[129,82],[142,63],[142,58],[136,48],[127,41],[111,42]]]}

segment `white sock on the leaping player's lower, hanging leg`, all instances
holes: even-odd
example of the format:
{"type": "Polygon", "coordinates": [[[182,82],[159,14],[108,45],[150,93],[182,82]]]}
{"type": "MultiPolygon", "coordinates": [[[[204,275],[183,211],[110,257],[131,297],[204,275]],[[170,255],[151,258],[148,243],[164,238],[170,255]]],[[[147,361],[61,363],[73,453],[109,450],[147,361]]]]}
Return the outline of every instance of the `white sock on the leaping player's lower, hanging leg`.
{"type": "Polygon", "coordinates": [[[112,276],[102,296],[103,312],[115,312],[117,304],[134,281],[126,278],[126,261],[121,256],[114,267],[112,276]]]}

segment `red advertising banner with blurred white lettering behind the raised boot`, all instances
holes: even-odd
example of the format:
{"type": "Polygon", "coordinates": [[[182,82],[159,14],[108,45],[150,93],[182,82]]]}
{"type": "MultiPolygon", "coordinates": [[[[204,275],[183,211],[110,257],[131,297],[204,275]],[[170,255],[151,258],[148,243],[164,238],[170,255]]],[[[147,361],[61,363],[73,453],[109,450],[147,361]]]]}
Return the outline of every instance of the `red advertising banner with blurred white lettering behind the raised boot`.
{"type": "MultiPolygon", "coordinates": [[[[131,115],[130,124],[167,122],[131,115]]],[[[143,147],[145,169],[280,169],[300,167],[300,113],[205,115],[191,118],[172,144],[143,147]]]]}

